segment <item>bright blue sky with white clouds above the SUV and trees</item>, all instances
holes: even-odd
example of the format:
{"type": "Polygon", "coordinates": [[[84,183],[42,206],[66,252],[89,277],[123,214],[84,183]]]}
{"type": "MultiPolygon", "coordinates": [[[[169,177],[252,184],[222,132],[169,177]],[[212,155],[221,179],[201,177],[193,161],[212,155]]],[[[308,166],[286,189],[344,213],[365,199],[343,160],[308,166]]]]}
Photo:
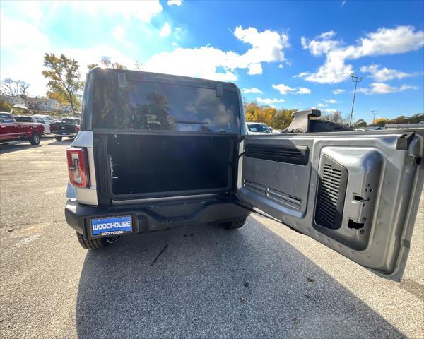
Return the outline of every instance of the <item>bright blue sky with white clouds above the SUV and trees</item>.
{"type": "Polygon", "coordinates": [[[45,94],[45,52],[233,81],[248,100],[351,111],[424,112],[424,1],[1,1],[1,78],[45,94]]]}

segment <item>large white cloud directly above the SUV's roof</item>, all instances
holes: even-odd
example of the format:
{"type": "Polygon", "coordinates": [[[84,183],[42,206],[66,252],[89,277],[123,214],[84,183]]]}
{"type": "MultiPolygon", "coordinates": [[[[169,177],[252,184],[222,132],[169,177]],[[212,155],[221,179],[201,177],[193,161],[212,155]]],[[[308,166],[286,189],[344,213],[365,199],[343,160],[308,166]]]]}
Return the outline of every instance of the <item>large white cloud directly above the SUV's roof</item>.
{"type": "Polygon", "coordinates": [[[237,69],[248,69],[249,74],[261,73],[262,62],[283,61],[288,36],[276,31],[256,28],[235,28],[235,37],[250,45],[247,52],[238,54],[212,46],[176,48],[172,52],[160,52],[146,61],[146,71],[197,76],[220,81],[236,81],[237,69]]]}

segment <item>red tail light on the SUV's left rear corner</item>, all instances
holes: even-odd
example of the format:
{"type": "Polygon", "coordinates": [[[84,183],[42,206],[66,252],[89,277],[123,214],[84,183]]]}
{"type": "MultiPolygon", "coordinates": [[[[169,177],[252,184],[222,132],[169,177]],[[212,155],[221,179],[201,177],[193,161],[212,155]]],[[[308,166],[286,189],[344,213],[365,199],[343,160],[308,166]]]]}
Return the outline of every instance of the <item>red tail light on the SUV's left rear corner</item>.
{"type": "Polygon", "coordinates": [[[73,186],[86,188],[90,185],[88,175],[88,158],[85,148],[68,148],[66,150],[68,158],[69,182],[73,186]]]}

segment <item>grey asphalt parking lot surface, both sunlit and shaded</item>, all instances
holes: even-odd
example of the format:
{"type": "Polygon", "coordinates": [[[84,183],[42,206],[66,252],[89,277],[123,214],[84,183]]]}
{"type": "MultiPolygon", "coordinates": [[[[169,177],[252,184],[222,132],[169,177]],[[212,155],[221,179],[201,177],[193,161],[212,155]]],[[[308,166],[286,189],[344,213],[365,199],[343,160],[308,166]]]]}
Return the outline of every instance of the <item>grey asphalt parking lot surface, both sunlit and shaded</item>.
{"type": "Polygon", "coordinates": [[[69,144],[0,146],[2,338],[424,337],[423,198],[400,284],[257,216],[86,251],[64,220],[69,144]]]}

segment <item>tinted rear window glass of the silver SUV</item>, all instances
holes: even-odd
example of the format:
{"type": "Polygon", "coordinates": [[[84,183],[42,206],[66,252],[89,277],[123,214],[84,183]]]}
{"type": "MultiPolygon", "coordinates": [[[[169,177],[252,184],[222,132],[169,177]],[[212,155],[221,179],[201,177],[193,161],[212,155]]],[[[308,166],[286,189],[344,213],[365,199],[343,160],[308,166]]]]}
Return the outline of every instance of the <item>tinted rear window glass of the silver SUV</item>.
{"type": "Polygon", "coordinates": [[[214,88],[96,79],[93,127],[158,131],[239,131],[238,96],[214,88]]]}

